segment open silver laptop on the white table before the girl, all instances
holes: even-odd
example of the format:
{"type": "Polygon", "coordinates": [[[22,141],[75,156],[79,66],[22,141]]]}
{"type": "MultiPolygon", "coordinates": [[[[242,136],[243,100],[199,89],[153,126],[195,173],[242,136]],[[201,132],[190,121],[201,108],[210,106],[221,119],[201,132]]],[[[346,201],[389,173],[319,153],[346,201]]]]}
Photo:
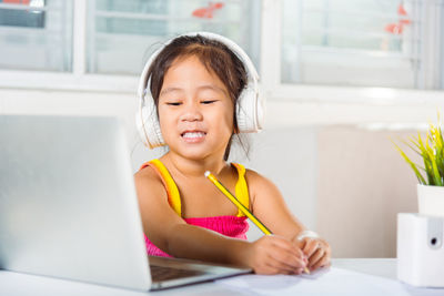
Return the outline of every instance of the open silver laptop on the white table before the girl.
{"type": "Polygon", "coordinates": [[[54,115],[0,115],[0,269],[138,290],[251,272],[147,256],[119,120],[54,115]]]}

